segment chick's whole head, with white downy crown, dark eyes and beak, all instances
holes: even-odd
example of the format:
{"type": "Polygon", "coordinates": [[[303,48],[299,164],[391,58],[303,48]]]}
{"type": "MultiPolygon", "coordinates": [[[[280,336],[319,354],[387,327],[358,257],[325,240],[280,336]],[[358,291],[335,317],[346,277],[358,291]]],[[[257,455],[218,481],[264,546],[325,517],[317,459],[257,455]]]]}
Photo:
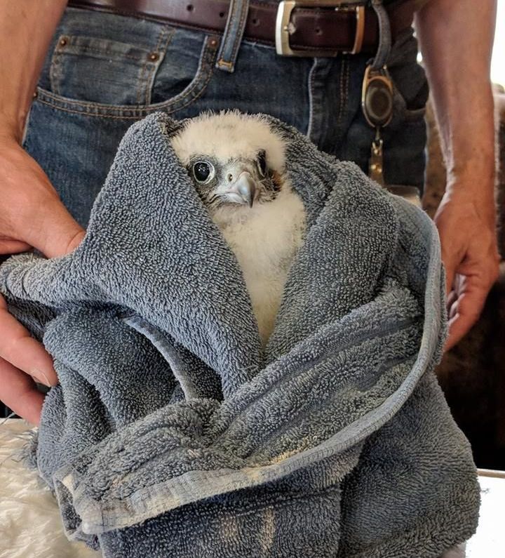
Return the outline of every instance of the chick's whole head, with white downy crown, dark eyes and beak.
{"type": "Polygon", "coordinates": [[[248,211],[281,190],[284,142],[261,116],[205,113],[171,142],[210,213],[248,211]]]}

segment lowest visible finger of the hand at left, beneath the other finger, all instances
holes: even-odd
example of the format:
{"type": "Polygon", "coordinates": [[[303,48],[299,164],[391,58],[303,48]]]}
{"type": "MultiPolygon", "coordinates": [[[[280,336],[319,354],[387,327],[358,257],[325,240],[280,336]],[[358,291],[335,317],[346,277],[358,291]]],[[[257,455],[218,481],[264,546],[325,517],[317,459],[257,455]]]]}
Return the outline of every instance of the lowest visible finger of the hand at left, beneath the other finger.
{"type": "Polygon", "coordinates": [[[44,395],[32,378],[4,359],[0,359],[0,399],[29,423],[39,424],[44,395]]]}

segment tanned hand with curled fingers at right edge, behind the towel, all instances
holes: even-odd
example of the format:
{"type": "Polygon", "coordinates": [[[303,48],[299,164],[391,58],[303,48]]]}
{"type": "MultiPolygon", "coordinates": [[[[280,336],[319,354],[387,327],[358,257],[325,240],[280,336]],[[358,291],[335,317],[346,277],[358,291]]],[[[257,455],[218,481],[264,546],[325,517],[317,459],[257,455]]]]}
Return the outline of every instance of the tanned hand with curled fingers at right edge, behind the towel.
{"type": "Polygon", "coordinates": [[[435,222],[446,273],[450,350],[476,323],[498,277],[499,255],[492,199],[471,197],[461,185],[448,187],[435,222]]]}

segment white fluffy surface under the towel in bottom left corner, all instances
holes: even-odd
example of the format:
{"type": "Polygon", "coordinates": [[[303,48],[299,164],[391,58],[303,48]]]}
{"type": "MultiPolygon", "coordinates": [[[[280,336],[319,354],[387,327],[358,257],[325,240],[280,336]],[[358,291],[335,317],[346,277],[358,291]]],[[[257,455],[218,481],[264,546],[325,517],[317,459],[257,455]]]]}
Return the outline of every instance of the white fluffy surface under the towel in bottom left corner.
{"type": "Polygon", "coordinates": [[[0,426],[0,557],[101,557],[101,552],[66,538],[53,494],[35,471],[17,460],[28,431],[20,419],[0,426]]]}

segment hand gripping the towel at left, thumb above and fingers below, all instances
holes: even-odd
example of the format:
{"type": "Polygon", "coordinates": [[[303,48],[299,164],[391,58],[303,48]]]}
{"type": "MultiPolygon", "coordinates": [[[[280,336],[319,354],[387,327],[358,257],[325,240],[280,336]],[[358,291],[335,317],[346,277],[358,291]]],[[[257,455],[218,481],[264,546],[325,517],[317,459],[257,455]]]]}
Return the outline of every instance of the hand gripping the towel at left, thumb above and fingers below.
{"type": "MultiPolygon", "coordinates": [[[[40,166],[8,137],[0,137],[0,205],[0,254],[33,246],[54,258],[74,250],[84,236],[40,166]]],[[[0,399],[38,424],[44,396],[34,380],[56,385],[53,361],[0,295],[0,399]]]]}

